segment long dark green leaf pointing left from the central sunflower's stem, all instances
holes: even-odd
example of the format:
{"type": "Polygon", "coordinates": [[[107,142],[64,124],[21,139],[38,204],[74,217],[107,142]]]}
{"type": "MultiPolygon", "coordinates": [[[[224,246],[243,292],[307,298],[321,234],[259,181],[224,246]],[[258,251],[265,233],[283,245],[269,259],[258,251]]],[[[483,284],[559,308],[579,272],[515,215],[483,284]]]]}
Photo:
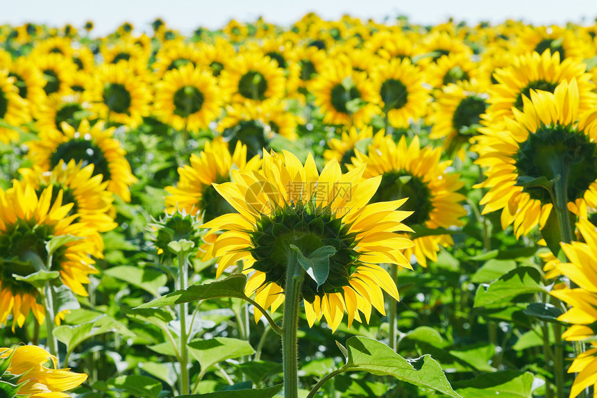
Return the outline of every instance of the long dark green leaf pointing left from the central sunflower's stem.
{"type": "Polygon", "coordinates": [[[246,299],[244,295],[244,285],[246,285],[246,276],[243,274],[233,274],[226,279],[203,285],[192,285],[186,290],[176,290],[169,295],[142,304],[137,308],[155,308],[171,306],[173,304],[190,303],[205,299],[216,299],[218,297],[236,297],[246,299]]]}

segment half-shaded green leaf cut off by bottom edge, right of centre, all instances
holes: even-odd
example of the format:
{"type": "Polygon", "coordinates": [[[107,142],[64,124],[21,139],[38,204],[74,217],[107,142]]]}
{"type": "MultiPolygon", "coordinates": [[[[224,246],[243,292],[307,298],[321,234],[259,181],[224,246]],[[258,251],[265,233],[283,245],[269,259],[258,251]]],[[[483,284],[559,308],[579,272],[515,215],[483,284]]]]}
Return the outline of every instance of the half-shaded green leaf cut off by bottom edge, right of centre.
{"type": "Polygon", "coordinates": [[[453,387],[463,398],[531,398],[534,379],[529,372],[506,370],[458,381],[453,383],[453,387]]]}

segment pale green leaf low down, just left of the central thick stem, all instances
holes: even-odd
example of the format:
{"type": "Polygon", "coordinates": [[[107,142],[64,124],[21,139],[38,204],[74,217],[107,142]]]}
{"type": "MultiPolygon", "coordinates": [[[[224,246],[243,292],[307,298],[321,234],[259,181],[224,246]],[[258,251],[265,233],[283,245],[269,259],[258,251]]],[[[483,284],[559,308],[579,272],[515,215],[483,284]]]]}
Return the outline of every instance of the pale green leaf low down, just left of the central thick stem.
{"type": "Polygon", "coordinates": [[[199,361],[202,370],[222,360],[255,354],[249,342],[236,338],[216,337],[209,340],[194,340],[188,346],[189,353],[199,361]]]}

